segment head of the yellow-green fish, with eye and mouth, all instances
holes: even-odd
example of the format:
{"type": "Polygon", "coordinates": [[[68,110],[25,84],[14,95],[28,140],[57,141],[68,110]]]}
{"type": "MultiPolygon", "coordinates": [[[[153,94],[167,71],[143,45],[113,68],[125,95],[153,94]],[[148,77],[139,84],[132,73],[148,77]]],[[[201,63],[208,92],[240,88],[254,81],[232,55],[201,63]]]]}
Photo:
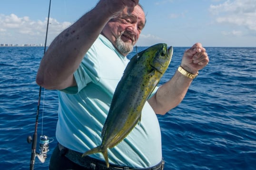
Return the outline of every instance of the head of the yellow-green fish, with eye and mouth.
{"type": "Polygon", "coordinates": [[[156,44],[148,48],[148,55],[150,57],[149,65],[156,71],[164,74],[169,66],[173,54],[173,47],[167,48],[167,44],[156,44]]]}

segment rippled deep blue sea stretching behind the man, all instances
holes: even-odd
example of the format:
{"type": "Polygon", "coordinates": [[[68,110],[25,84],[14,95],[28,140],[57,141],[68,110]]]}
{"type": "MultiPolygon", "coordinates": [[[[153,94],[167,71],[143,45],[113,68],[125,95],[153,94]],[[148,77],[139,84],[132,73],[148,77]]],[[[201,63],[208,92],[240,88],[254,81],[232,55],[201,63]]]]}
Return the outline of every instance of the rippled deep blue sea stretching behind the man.
{"type": "MultiPolygon", "coordinates": [[[[145,47],[138,47],[138,51],[145,47]]],[[[174,54],[160,84],[169,80],[187,47],[174,54]]],[[[209,64],[176,108],[158,116],[165,170],[256,170],[256,47],[206,47],[209,64]]],[[[39,86],[35,77],[43,47],[0,47],[0,168],[28,170],[39,86]]],[[[135,49],[128,57],[135,54],[135,49]]],[[[42,89],[38,135],[57,141],[56,91],[42,89]],[[42,119],[43,117],[43,119],[42,119]]],[[[39,151],[39,139],[37,140],[39,151]]]]}

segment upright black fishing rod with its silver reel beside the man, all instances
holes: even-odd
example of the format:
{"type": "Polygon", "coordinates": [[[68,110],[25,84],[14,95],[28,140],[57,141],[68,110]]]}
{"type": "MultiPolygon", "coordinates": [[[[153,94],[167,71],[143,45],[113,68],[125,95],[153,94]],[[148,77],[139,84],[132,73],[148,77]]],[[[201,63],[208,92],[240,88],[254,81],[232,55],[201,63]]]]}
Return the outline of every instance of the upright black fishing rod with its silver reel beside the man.
{"type": "MultiPolygon", "coordinates": [[[[48,35],[48,27],[49,27],[49,16],[50,16],[50,6],[51,6],[51,0],[49,0],[49,12],[48,12],[48,20],[47,20],[47,28],[46,28],[46,38],[45,38],[45,44],[44,44],[44,54],[46,51],[46,43],[47,43],[47,35],[48,35]]],[[[38,129],[38,117],[39,117],[39,107],[40,107],[40,100],[41,100],[41,91],[42,87],[39,87],[39,98],[38,98],[38,106],[37,106],[37,114],[36,114],[36,123],[35,123],[35,132],[33,134],[33,138],[31,136],[28,136],[27,142],[30,143],[32,141],[31,145],[31,158],[30,158],[30,170],[34,169],[35,165],[35,159],[36,156],[39,158],[39,161],[44,163],[45,159],[47,158],[47,152],[49,151],[49,137],[46,135],[40,136],[40,142],[39,142],[39,153],[36,152],[37,148],[37,129],[38,129]]],[[[51,141],[52,142],[52,141],[51,141]]]]}

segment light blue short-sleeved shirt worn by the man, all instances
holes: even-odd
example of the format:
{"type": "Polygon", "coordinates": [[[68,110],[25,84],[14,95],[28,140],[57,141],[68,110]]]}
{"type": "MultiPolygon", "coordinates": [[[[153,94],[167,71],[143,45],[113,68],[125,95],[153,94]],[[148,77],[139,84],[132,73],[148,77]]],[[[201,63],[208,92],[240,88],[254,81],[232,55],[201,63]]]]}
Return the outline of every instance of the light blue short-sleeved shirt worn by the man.
{"type": "MultiPolygon", "coordinates": [[[[107,38],[99,35],[74,73],[77,87],[59,91],[59,143],[81,153],[101,144],[111,99],[128,62],[107,38]]],[[[89,156],[104,161],[101,153],[89,156]]],[[[108,149],[108,159],[109,163],[134,168],[151,167],[161,161],[160,127],[148,102],[136,127],[108,149]]]]}

